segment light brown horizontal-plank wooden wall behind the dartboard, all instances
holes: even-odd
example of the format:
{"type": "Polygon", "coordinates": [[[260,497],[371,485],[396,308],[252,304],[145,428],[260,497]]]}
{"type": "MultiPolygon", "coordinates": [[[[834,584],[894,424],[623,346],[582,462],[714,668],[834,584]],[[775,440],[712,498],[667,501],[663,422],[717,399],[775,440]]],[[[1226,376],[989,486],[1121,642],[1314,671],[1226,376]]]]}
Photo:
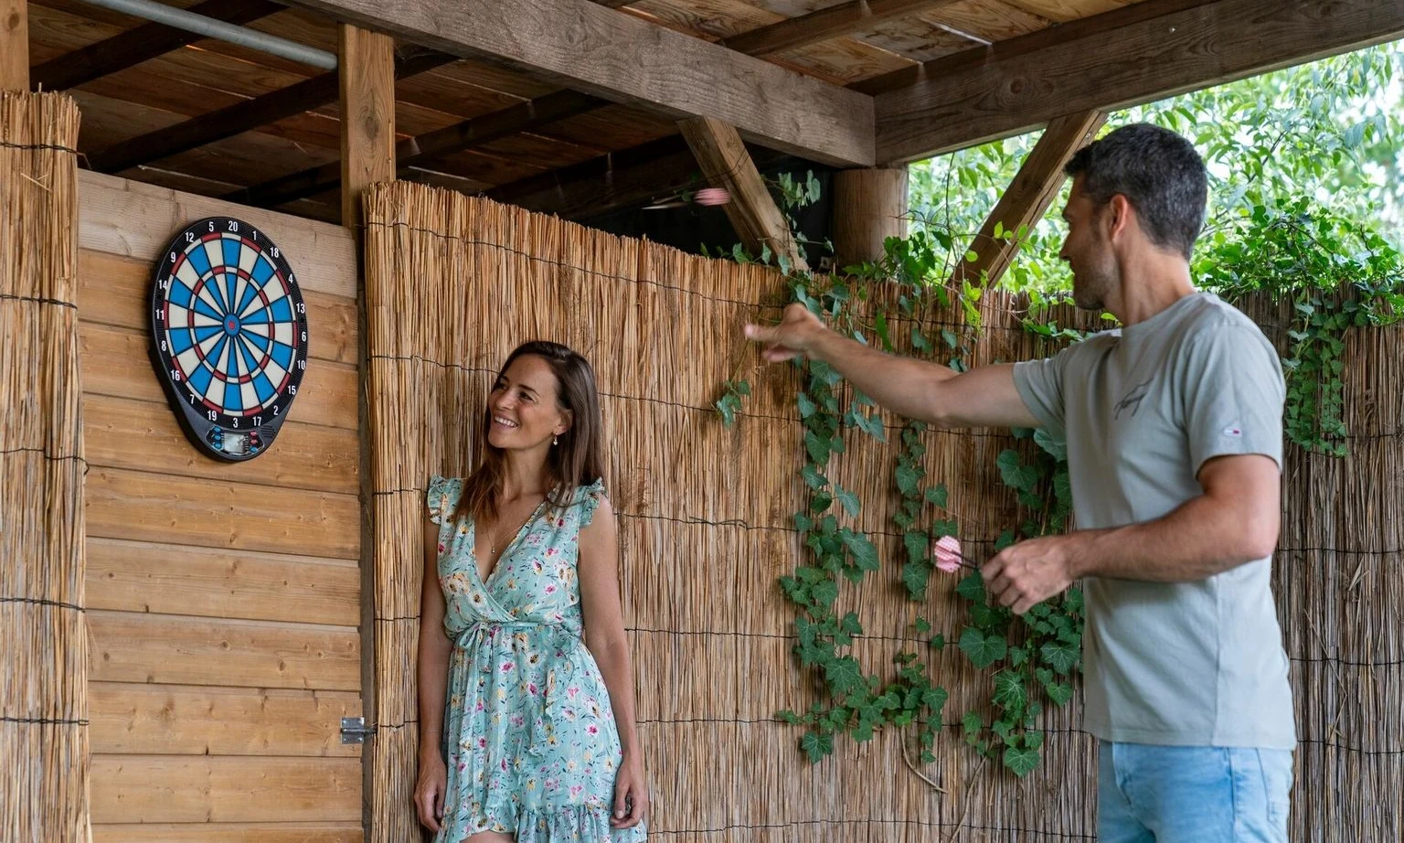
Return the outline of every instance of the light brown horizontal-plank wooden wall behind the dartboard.
{"type": "Polygon", "coordinates": [[[87,171],[80,208],[94,840],[359,842],[351,236],[87,171]],[[265,230],[307,302],[302,391],[243,464],[195,451],[147,358],[156,256],[215,214],[265,230]]]}

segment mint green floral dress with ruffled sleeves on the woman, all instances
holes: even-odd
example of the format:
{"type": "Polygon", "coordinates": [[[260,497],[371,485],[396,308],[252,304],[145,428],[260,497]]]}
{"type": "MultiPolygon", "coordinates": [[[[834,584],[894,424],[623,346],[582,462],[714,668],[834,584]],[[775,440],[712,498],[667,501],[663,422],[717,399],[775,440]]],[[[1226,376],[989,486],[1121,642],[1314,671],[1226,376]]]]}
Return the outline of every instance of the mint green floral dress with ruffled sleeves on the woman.
{"type": "Polygon", "coordinates": [[[580,530],[604,497],[595,482],[569,506],[543,503],[483,582],[472,518],[453,520],[463,483],[432,478],[438,575],[453,639],[444,760],[448,788],[435,843],[479,832],[517,843],[633,843],[643,823],[609,828],[619,731],[609,691],[581,641],[580,530]]]}

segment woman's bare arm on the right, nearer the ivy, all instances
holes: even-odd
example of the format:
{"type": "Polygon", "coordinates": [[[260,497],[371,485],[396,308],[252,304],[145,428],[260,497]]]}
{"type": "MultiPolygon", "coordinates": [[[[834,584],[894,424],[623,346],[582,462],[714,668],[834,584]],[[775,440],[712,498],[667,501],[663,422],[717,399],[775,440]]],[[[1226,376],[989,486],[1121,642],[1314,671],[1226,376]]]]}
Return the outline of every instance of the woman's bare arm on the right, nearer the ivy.
{"type": "Polygon", "coordinates": [[[585,646],[600,665],[609,707],[619,728],[623,763],[615,780],[615,812],[611,825],[639,825],[649,812],[643,754],[633,722],[633,666],[619,604],[619,537],[609,500],[601,500],[595,517],[580,531],[580,606],[585,617],[585,646]],[[632,808],[632,809],[630,809],[632,808]]]}

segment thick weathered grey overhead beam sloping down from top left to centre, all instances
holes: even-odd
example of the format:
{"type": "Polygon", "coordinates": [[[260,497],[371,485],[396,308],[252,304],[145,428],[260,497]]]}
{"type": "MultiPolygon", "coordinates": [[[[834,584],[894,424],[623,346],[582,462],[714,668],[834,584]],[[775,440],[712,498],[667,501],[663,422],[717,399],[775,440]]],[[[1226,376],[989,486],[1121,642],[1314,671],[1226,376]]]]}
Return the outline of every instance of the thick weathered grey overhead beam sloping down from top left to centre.
{"type": "Polygon", "coordinates": [[[873,163],[872,101],[590,0],[291,0],[461,56],[543,74],[615,103],[712,117],[765,146],[873,163]]]}

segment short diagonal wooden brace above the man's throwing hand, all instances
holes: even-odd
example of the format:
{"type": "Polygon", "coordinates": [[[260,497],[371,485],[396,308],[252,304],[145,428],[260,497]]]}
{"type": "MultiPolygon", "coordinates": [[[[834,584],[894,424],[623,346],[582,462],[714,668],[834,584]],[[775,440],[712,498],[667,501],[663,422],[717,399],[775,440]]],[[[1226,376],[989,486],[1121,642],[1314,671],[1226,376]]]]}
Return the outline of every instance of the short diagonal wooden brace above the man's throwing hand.
{"type": "Polygon", "coordinates": [[[772,254],[785,256],[795,268],[809,268],[789,222],[765,188],[736,129],[709,117],[680,121],[678,129],[712,187],[723,187],[731,194],[723,208],[747,250],[761,254],[768,247],[772,254]]]}

